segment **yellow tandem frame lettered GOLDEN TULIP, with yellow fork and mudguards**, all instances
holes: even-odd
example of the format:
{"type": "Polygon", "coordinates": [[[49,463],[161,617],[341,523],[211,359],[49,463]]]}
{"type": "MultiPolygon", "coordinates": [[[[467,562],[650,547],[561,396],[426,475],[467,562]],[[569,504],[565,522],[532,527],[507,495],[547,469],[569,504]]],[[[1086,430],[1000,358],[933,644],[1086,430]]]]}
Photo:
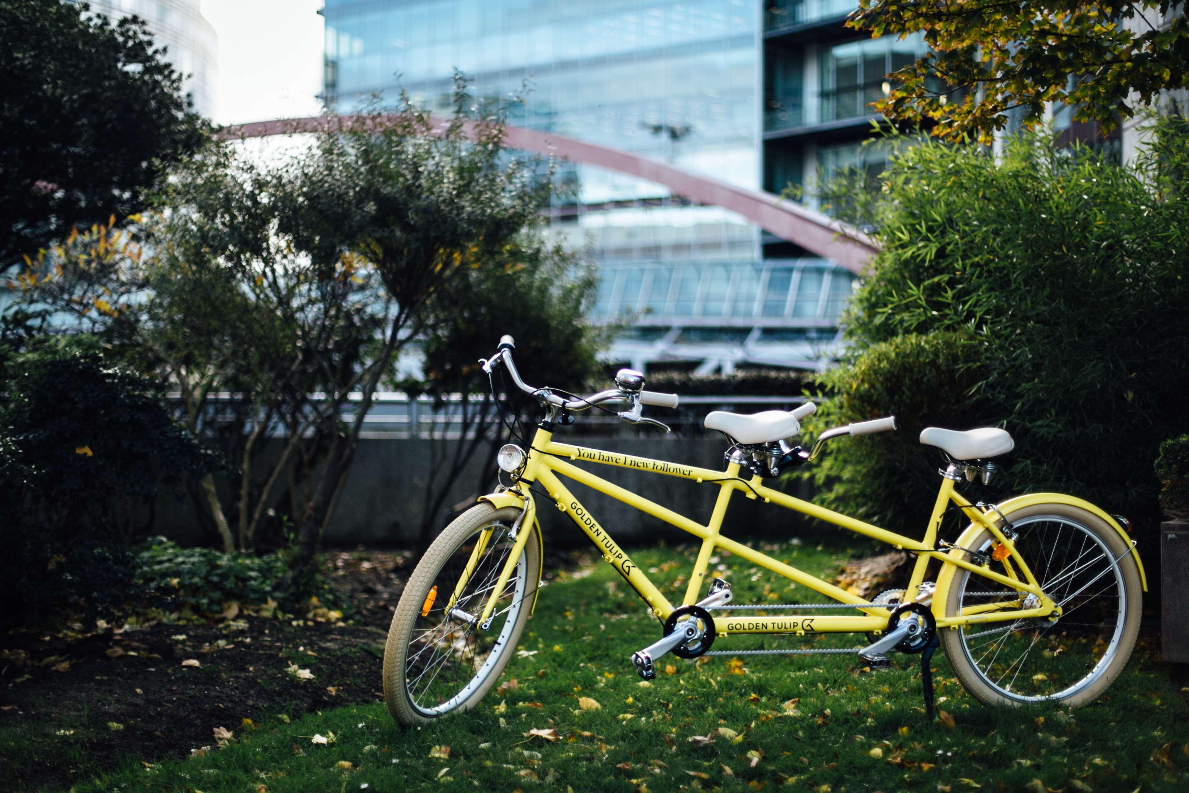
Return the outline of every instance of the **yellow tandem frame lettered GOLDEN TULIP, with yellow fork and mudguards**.
{"type": "MultiPolygon", "coordinates": [[[[954,490],[955,483],[952,479],[944,478],[942,480],[940,491],[937,493],[937,501],[933,504],[933,512],[929,521],[929,527],[925,530],[925,537],[923,540],[913,540],[767,487],[763,484],[763,479],[759,476],[753,476],[750,479],[741,478],[738,476],[740,465],[737,462],[730,462],[726,466],[726,471],[712,471],[710,468],[699,468],[677,462],[631,457],[629,454],[619,454],[616,452],[604,452],[581,446],[555,443],[551,432],[539,428],[533,439],[531,448],[528,451],[528,459],[524,462],[524,468],[512,489],[483,497],[483,501],[487,501],[495,506],[523,506],[529,511],[529,514],[526,515],[522,521],[522,529],[514,541],[511,553],[508,555],[508,561],[502,571],[499,581],[492,590],[492,594],[489,597],[489,600],[483,610],[480,624],[493,612],[497,593],[503,591],[503,585],[507,584],[520,559],[520,552],[523,549],[529,536],[529,522],[531,521],[533,527],[540,531],[536,524],[535,503],[529,490],[529,485],[534,482],[545,486],[558,509],[568,515],[586,534],[586,536],[591,539],[591,541],[602,552],[603,560],[615,567],[615,569],[623,575],[623,578],[628,581],[628,585],[631,586],[649,605],[653,615],[656,616],[658,619],[663,621],[673,612],[675,606],[668,602],[656,586],[653,585],[643,571],[641,571],[640,567],[631,561],[631,558],[618,546],[618,543],[616,543],[606,530],[599,525],[598,521],[594,520],[590,511],[586,510],[586,508],[579,503],[570,490],[566,489],[556,474],[561,474],[600,493],[605,493],[634,509],[660,518],[684,531],[688,531],[693,536],[702,540],[702,548],[698,553],[698,559],[694,562],[693,572],[690,575],[690,584],[686,587],[685,597],[678,605],[692,605],[698,602],[703,584],[706,583],[706,568],[710,564],[710,558],[716,550],[722,549],[839,603],[854,604],[856,610],[863,613],[863,616],[837,617],[819,615],[715,617],[715,632],[719,636],[731,634],[794,634],[804,636],[806,634],[853,631],[880,632],[887,628],[889,616],[886,608],[873,606],[868,600],[864,600],[856,594],[847,592],[845,590],[824,581],[820,578],[805,573],[804,571],[786,565],[778,559],[773,559],[767,554],[754,550],[748,546],[723,536],[723,518],[726,515],[726,506],[730,503],[731,496],[736,491],[742,491],[748,498],[762,498],[765,503],[778,504],[786,509],[809,515],[810,517],[832,523],[844,529],[872,537],[873,540],[885,542],[898,549],[916,554],[917,561],[913,566],[912,575],[908,581],[905,602],[912,602],[917,598],[918,590],[925,579],[925,569],[929,561],[931,559],[939,560],[942,562],[942,572],[938,575],[937,590],[932,599],[932,612],[938,628],[957,628],[958,625],[970,623],[1000,622],[1025,617],[1056,618],[1061,613],[1059,606],[1057,606],[1057,604],[1042,591],[1040,585],[1032,574],[1032,571],[1028,569],[1027,564],[1015,550],[1012,541],[1005,536],[1002,531],[1000,531],[999,514],[994,510],[983,511],[973,505],[954,490]],[[698,484],[716,484],[719,487],[718,498],[715,502],[715,509],[710,516],[710,522],[703,525],[685,517],[684,515],[679,515],[671,509],[637,496],[630,490],[625,490],[624,487],[602,479],[589,471],[573,465],[574,461],[612,465],[623,468],[631,468],[634,471],[646,471],[668,477],[692,479],[698,484]],[[961,508],[962,511],[970,517],[971,523],[970,527],[963,533],[956,546],[939,549],[937,547],[937,533],[940,528],[946,506],[951,503],[961,508]],[[977,565],[967,559],[969,554],[967,553],[967,547],[963,546],[963,541],[973,541],[974,537],[983,529],[989,530],[995,541],[1007,548],[1008,556],[1004,560],[1004,568],[1007,574],[998,573],[990,569],[989,565],[977,565]],[[1019,598],[1004,603],[980,604],[977,606],[963,609],[962,613],[958,616],[948,617],[945,615],[945,604],[948,602],[946,596],[954,574],[960,568],[968,569],[973,573],[982,575],[986,579],[995,581],[996,584],[1009,587],[1011,590],[1019,592],[1019,598]],[[1015,608],[1019,606],[1028,594],[1036,596],[1039,605],[1034,609],[1015,608]],[[1005,609],[1005,606],[1012,608],[1005,609]]],[[[1119,527],[1119,524],[1106,512],[1093,504],[1070,496],[1063,496],[1059,493],[1037,493],[1033,496],[1025,496],[1001,504],[1000,510],[1006,515],[1027,504],[1053,502],[1074,504],[1082,506],[1083,509],[1089,509],[1106,520],[1120,535],[1124,536],[1125,540],[1127,539],[1122,528],[1119,527]]],[[[1140,579],[1144,584],[1144,590],[1146,591],[1147,580],[1144,575],[1144,568],[1139,562],[1139,554],[1134,549],[1132,549],[1131,553],[1135,560],[1135,565],[1139,567],[1140,579]]]]}

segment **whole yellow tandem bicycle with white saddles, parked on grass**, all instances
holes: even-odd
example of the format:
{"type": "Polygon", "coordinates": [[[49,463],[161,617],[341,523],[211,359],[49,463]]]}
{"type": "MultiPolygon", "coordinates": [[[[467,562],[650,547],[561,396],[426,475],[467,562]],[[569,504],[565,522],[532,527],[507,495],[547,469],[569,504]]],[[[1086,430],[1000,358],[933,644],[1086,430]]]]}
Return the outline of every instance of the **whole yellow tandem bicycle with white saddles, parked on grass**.
{"type": "MultiPolygon", "coordinates": [[[[943,647],[963,686],[994,705],[1056,700],[1076,706],[1095,699],[1122,671],[1135,643],[1140,599],[1147,583],[1135,543],[1116,520],[1089,502],[1061,493],[1031,493],[999,504],[974,504],[957,492],[962,479],[983,480],[992,458],[1012,449],[999,428],[955,432],[936,427],[920,442],[939,448],[948,461],[924,537],[914,540],[794,498],[765,484],[792,466],[812,462],[835,438],[895,429],[895,418],[877,418],[822,433],[812,451],[792,445],[812,402],[795,410],[755,415],[710,413],[707,429],[730,441],[725,471],[617,454],[554,440],[571,414],[604,402],[625,405],[619,417],[634,423],[661,422],[642,415],[644,405],[677,407],[678,397],[643,389],[640,372],[621,370],[616,386],[586,397],[521,379],[512,361],[515,342],[504,336],[482,360],[535,398],[545,418],[528,445],[504,446],[499,467],[511,484],[483,496],[453,521],[417,564],[401,596],[384,653],[384,696],[401,724],[424,724],[473,707],[499,678],[541,585],[542,540],[537,495],[568,515],[631,586],[661,623],[661,636],[631,656],[644,679],[656,661],[673,654],[692,659],[740,634],[866,635],[850,650],[753,650],[765,653],[854,653],[860,662],[886,666],[892,653],[920,653],[925,701],[932,711],[929,657],[943,647]],[[710,520],[703,524],[602,479],[578,462],[691,479],[718,486],[710,520]],[[566,489],[560,477],[581,483],[642,512],[688,531],[702,541],[681,603],[671,603],[648,575],[566,489]],[[539,485],[536,491],[531,487],[539,485]],[[864,599],[786,565],[721,529],[731,497],[741,492],[803,512],[916,555],[904,590],[864,599]],[[541,493],[541,495],[545,495],[541,493]],[[956,542],[939,541],[948,509],[970,521],[956,542]],[[726,550],[819,592],[837,603],[740,605],[730,584],[706,578],[710,558],[726,550]],[[940,562],[926,581],[930,561],[940,562]],[[803,610],[835,613],[772,613],[803,610]],[[761,613],[755,613],[755,612],[761,613]],[[838,613],[850,611],[855,613],[838,613]]],[[[1124,521],[1125,522],[1125,521],[1124,521]]],[[[936,567],[936,566],[935,566],[936,567]]]]}

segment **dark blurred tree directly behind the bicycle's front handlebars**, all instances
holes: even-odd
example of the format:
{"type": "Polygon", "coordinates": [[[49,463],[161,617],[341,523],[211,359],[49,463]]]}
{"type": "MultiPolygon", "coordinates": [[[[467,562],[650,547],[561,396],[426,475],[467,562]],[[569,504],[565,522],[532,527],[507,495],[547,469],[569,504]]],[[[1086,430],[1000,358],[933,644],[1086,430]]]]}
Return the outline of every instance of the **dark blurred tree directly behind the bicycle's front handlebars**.
{"type": "MultiPolygon", "coordinates": [[[[526,377],[536,372],[548,385],[577,392],[599,371],[597,353],[612,331],[587,321],[598,292],[589,266],[536,235],[526,234],[517,243],[505,266],[471,270],[433,300],[422,345],[423,378],[402,384],[413,395],[430,395],[435,408],[448,407],[457,415],[457,423],[430,430],[422,546],[441,528],[443,514],[452,511],[447,499],[453,486],[480,451],[485,464],[473,483],[474,493],[487,492],[493,484],[504,427],[496,417],[499,395],[492,394],[493,383],[478,359],[490,355],[503,334],[511,334],[516,365],[526,377]],[[455,395],[458,401],[448,402],[455,395]]],[[[536,407],[526,404],[518,391],[507,396],[505,414],[536,407]]]]}

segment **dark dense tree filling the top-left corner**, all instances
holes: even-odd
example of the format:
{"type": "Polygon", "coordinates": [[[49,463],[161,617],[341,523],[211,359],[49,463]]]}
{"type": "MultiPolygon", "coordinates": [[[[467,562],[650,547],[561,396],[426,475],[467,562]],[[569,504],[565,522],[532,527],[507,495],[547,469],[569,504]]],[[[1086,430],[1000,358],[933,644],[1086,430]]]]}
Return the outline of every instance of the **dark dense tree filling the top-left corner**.
{"type": "Polygon", "coordinates": [[[140,19],[0,0],[0,272],[71,228],[125,218],[203,122],[140,19]]]}

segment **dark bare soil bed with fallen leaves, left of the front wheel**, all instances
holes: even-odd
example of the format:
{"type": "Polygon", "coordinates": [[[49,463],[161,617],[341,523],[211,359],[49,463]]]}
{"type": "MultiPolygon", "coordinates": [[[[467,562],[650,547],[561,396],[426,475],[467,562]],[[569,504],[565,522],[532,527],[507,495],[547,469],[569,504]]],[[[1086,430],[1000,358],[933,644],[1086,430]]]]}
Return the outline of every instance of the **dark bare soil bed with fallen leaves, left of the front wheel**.
{"type": "Polygon", "coordinates": [[[326,572],[353,605],[348,623],[237,616],[74,641],[0,636],[0,788],[64,789],[128,756],[213,747],[215,728],[239,735],[270,718],[382,699],[388,623],[414,561],[328,553],[326,572]]]}

